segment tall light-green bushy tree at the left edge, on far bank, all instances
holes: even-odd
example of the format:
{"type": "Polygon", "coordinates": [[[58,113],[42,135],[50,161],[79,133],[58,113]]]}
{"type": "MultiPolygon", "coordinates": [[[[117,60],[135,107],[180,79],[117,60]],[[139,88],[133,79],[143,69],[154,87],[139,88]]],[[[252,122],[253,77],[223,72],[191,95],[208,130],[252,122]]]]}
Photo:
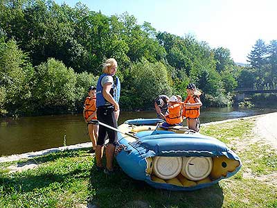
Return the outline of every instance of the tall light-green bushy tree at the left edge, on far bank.
{"type": "Polygon", "coordinates": [[[12,113],[31,110],[34,69],[14,40],[0,42],[1,107],[12,113]]]}

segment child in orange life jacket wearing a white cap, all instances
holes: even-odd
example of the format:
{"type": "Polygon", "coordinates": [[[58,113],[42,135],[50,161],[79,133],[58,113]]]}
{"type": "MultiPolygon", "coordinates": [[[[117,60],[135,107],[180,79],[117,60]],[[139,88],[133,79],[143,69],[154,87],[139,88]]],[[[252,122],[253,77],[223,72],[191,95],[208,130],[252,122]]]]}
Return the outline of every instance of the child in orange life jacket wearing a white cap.
{"type": "Polygon", "coordinates": [[[168,112],[166,113],[166,123],[162,126],[168,127],[171,125],[182,125],[183,119],[181,116],[181,103],[178,103],[176,96],[171,96],[169,99],[168,112]]]}

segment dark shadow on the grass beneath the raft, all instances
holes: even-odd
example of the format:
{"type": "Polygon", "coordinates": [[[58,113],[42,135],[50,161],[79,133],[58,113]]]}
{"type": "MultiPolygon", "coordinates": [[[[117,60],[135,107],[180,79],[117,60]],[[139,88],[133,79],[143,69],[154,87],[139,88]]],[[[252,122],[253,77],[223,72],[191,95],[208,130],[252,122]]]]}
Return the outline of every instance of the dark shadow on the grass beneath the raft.
{"type": "Polygon", "coordinates": [[[97,207],[222,207],[223,193],[218,184],[196,191],[154,189],[133,180],[122,170],[107,176],[91,168],[89,203],[97,207]]]}

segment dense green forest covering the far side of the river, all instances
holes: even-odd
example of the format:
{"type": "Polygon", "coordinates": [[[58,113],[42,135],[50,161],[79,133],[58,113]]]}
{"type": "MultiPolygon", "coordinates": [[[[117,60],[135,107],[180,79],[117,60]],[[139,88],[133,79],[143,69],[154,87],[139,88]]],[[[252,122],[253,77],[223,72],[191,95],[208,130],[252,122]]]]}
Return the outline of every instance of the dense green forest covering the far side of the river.
{"type": "Polygon", "coordinates": [[[185,98],[188,83],[206,106],[231,105],[235,89],[277,85],[277,40],[257,40],[249,66],[238,66],[229,49],[139,25],[127,12],[0,0],[0,114],[80,112],[106,58],[118,61],[122,110],[152,109],[159,94],[185,98]]]}

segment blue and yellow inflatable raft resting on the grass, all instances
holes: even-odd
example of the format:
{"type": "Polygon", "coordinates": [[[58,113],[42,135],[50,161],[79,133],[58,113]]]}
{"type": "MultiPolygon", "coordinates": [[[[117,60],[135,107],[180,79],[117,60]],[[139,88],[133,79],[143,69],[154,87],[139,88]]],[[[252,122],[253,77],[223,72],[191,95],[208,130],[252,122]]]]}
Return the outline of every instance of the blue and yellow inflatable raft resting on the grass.
{"type": "Polygon", "coordinates": [[[116,160],[135,180],[158,189],[189,191],[216,184],[240,170],[233,150],[187,128],[161,128],[161,119],[133,119],[118,126],[116,160]]]}

